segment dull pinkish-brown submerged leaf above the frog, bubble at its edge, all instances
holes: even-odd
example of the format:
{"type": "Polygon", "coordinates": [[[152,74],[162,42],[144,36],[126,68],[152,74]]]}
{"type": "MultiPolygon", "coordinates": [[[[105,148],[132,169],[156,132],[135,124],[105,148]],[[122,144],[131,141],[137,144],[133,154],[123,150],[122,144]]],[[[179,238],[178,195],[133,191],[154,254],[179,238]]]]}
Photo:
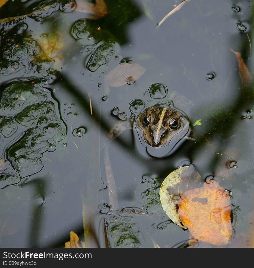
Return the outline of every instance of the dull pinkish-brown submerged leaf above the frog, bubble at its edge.
{"type": "Polygon", "coordinates": [[[121,87],[126,85],[126,79],[132,78],[135,82],[141,75],[145,73],[146,69],[140,64],[131,62],[122,62],[118,64],[113,70],[111,70],[104,78],[105,93],[109,93],[109,87],[121,87]]]}

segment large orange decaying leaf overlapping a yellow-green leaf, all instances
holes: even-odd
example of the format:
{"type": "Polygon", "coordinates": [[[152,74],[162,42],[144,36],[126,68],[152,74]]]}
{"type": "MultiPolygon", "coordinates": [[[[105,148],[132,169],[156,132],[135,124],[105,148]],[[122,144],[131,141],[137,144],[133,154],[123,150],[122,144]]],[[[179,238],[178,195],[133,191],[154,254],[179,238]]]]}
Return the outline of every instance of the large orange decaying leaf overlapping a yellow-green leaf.
{"type": "Polygon", "coordinates": [[[178,214],[193,239],[226,245],[232,233],[229,193],[216,181],[187,190],[177,201],[178,214]]]}

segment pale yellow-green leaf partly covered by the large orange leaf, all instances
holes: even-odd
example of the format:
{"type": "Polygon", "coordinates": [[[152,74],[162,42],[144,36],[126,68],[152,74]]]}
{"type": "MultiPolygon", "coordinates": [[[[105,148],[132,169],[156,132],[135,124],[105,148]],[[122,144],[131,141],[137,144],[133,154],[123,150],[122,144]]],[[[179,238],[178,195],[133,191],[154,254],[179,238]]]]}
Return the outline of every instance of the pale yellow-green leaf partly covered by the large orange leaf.
{"type": "Polygon", "coordinates": [[[175,202],[182,193],[191,187],[198,187],[201,183],[201,176],[195,171],[194,166],[180,167],[169,173],[160,186],[160,202],[163,210],[171,221],[182,226],[175,202]]]}

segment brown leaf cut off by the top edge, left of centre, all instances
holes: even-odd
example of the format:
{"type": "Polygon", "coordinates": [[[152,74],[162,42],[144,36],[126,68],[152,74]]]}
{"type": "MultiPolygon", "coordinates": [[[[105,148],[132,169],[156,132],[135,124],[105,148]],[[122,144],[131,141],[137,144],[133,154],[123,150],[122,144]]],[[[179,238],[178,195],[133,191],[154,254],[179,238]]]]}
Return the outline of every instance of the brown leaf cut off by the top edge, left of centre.
{"type": "Polygon", "coordinates": [[[76,11],[91,14],[91,16],[86,17],[87,19],[90,20],[100,19],[105,17],[108,13],[107,5],[103,0],[96,0],[95,4],[83,0],[82,1],[79,0],[76,2],[77,2],[76,11]]]}

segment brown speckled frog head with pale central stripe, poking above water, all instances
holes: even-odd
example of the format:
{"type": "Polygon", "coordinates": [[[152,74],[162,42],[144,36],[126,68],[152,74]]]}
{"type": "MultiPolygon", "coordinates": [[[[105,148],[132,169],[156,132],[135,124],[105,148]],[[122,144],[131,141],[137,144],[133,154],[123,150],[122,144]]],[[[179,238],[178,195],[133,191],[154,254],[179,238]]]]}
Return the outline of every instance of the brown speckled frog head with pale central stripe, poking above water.
{"type": "Polygon", "coordinates": [[[172,104],[155,104],[146,108],[135,120],[141,144],[153,157],[173,153],[190,135],[187,116],[172,104]]]}

